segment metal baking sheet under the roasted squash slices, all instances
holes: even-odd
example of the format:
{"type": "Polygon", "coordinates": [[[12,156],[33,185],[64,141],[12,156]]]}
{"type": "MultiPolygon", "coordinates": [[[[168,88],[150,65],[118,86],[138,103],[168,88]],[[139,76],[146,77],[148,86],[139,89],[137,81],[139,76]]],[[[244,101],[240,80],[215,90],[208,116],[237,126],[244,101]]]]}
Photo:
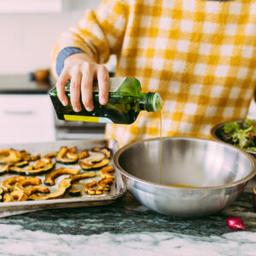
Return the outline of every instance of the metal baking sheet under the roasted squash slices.
{"type": "MultiPolygon", "coordinates": [[[[70,147],[77,147],[78,151],[82,151],[84,149],[90,149],[95,147],[108,147],[111,148],[113,151],[113,154],[118,149],[117,143],[112,139],[102,139],[102,140],[81,140],[81,141],[56,141],[56,142],[50,142],[50,143],[23,143],[23,144],[5,144],[0,145],[0,149],[3,148],[15,148],[17,150],[26,150],[32,155],[41,154],[43,156],[44,154],[57,152],[61,146],[67,146],[70,147]]],[[[112,158],[113,158],[112,154],[112,158]]],[[[102,158],[101,153],[95,153],[90,152],[91,158],[102,158]]],[[[34,164],[34,162],[31,162],[34,164]]],[[[112,159],[110,160],[110,165],[112,163],[112,159]]],[[[62,165],[60,163],[56,163],[55,169],[60,167],[73,167],[80,169],[79,165],[62,165]]],[[[26,167],[25,167],[26,168],[26,167]]],[[[110,191],[104,191],[103,195],[88,195],[84,192],[84,184],[90,183],[92,180],[100,180],[100,174],[99,171],[96,172],[96,177],[92,178],[86,178],[84,180],[80,180],[80,185],[75,185],[75,188],[82,189],[83,195],[79,197],[73,197],[70,195],[65,195],[64,198],[61,199],[52,199],[52,200],[43,200],[43,201],[14,201],[14,202],[0,202],[0,218],[9,216],[9,215],[15,215],[15,214],[21,214],[24,212],[30,212],[30,211],[38,211],[38,210],[44,210],[44,209],[51,209],[51,208],[67,208],[67,207],[91,207],[91,206],[102,206],[112,203],[113,201],[117,200],[122,195],[125,195],[126,188],[125,184],[122,181],[122,178],[119,176],[119,174],[115,173],[115,180],[111,186],[110,191]]],[[[81,170],[80,173],[83,173],[81,170]]],[[[11,176],[19,176],[19,174],[4,174],[0,176],[0,183],[3,182],[4,179],[11,176]]],[[[55,191],[62,178],[68,177],[69,175],[61,175],[61,177],[55,178],[55,186],[49,187],[50,192],[55,191]]],[[[44,184],[44,175],[38,175],[37,177],[42,179],[42,184],[44,184]]]]}

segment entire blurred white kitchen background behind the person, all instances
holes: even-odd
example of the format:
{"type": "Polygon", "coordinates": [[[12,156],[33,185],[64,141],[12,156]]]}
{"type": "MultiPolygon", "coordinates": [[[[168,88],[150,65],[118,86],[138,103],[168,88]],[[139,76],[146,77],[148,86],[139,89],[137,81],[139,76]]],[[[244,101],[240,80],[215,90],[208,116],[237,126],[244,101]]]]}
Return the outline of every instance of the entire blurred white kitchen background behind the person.
{"type": "MultiPolygon", "coordinates": [[[[56,119],[48,91],[56,38],[102,0],[0,0],[0,143],[104,137],[104,124],[56,119]]],[[[108,71],[114,73],[115,58],[108,71]]],[[[255,118],[252,101],[249,118],[255,118]]]]}

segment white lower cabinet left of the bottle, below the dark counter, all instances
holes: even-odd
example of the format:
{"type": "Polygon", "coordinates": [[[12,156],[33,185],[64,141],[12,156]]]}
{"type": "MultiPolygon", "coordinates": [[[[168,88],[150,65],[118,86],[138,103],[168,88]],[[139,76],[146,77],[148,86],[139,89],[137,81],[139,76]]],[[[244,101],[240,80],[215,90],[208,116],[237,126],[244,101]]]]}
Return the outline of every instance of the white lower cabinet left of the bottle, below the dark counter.
{"type": "Polygon", "coordinates": [[[55,140],[53,108],[48,95],[0,95],[0,143],[55,140]]]}

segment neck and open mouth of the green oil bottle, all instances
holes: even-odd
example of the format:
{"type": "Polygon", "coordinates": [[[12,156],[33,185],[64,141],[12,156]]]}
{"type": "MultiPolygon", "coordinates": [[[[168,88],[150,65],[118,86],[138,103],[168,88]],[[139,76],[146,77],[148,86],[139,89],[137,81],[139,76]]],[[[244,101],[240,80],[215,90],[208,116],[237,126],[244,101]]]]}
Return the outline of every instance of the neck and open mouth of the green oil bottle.
{"type": "Polygon", "coordinates": [[[160,94],[155,92],[141,93],[139,106],[141,110],[148,112],[158,111],[162,108],[160,94]]]}

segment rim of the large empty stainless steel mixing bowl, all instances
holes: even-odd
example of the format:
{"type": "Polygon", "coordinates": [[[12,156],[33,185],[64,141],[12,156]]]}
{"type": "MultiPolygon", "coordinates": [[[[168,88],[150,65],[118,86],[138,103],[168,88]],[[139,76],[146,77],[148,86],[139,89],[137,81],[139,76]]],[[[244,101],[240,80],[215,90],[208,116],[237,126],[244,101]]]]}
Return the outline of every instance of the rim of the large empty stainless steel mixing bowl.
{"type": "Polygon", "coordinates": [[[253,156],[251,154],[248,154],[247,152],[245,152],[245,150],[242,150],[241,148],[237,148],[236,146],[233,146],[229,143],[224,143],[221,140],[216,141],[216,140],[212,140],[212,139],[207,139],[207,138],[199,138],[199,137],[154,137],[154,138],[149,138],[149,139],[143,139],[143,140],[138,140],[135,143],[128,143],[126,144],[124,147],[119,148],[118,151],[116,151],[116,153],[113,155],[113,165],[119,170],[119,172],[121,172],[122,174],[125,175],[125,177],[129,177],[132,180],[135,180],[137,182],[141,182],[141,183],[145,183],[147,185],[154,185],[155,187],[159,187],[162,189],[178,189],[178,190],[202,190],[202,189],[227,189],[227,188],[231,188],[231,187],[235,187],[241,183],[246,183],[247,181],[249,181],[251,178],[253,178],[253,176],[256,174],[256,169],[255,169],[255,159],[253,158],[253,156]],[[156,141],[156,140],[165,140],[165,139],[176,139],[176,140],[189,140],[189,141],[195,141],[195,140],[199,140],[199,141],[204,141],[204,142],[211,142],[211,143],[220,143],[220,144],[224,144],[226,147],[229,148],[233,148],[235,151],[240,152],[241,154],[247,156],[247,159],[251,162],[252,164],[252,171],[246,176],[243,177],[239,180],[237,180],[236,182],[232,182],[232,183],[225,183],[224,185],[218,185],[218,186],[207,186],[207,187],[196,187],[196,188],[187,188],[187,187],[178,187],[178,186],[170,186],[170,185],[165,185],[165,184],[160,184],[160,183],[153,183],[153,182],[149,182],[145,179],[142,179],[140,177],[136,177],[134,175],[131,175],[129,172],[126,172],[120,165],[119,165],[119,156],[120,154],[122,154],[125,149],[130,148],[133,145],[139,144],[139,143],[144,143],[144,142],[150,142],[150,141],[156,141]]]}

